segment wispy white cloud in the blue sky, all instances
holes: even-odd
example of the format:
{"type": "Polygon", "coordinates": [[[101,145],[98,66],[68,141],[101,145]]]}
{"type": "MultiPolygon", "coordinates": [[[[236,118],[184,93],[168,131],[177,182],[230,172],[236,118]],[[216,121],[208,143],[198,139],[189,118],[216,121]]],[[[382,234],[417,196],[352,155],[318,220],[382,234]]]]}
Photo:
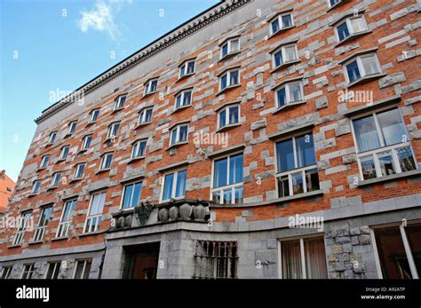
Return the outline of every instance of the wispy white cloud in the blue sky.
{"type": "Polygon", "coordinates": [[[115,9],[119,11],[122,4],[131,4],[131,2],[132,0],[109,0],[107,4],[99,0],[93,4],[91,11],[80,12],[82,16],[79,20],[76,20],[77,28],[83,33],[90,29],[105,32],[112,40],[117,41],[121,34],[114,21],[115,9]]]}

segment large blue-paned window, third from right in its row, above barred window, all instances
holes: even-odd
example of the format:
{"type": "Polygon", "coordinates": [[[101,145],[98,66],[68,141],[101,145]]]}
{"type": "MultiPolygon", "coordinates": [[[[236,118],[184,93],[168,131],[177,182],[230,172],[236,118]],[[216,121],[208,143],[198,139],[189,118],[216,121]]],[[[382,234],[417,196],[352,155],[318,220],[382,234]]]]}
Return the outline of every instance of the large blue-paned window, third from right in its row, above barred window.
{"type": "Polygon", "coordinates": [[[220,204],[242,203],[242,154],[235,154],[213,162],[212,201],[220,204]]]}

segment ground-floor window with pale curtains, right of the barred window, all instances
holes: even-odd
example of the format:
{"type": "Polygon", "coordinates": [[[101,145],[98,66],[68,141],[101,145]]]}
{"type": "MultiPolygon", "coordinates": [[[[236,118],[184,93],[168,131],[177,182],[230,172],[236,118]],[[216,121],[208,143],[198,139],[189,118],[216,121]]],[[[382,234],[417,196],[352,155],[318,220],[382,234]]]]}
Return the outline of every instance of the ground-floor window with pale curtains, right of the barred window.
{"type": "Polygon", "coordinates": [[[281,241],[282,279],[327,279],[322,237],[281,241]]]}

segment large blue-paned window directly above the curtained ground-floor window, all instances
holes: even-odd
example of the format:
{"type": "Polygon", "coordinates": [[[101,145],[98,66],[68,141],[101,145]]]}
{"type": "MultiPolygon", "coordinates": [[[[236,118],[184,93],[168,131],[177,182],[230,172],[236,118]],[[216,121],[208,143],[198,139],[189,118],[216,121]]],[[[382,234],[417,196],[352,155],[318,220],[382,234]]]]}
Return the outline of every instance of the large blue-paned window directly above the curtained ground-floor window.
{"type": "Polygon", "coordinates": [[[277,142],[276,162],[280,198],[320,189],[312,133],[277,142]]]}

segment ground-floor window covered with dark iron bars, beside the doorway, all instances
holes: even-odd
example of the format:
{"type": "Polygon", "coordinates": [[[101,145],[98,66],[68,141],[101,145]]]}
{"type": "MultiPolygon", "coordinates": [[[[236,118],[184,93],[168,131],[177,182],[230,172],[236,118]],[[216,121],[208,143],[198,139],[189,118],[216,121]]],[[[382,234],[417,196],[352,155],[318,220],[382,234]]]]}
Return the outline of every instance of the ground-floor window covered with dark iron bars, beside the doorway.
{"type": "Polygon", "coordinates": [[[237,278],[237,247],[236,241],[196,241],[193,278],[237,278]]]}

